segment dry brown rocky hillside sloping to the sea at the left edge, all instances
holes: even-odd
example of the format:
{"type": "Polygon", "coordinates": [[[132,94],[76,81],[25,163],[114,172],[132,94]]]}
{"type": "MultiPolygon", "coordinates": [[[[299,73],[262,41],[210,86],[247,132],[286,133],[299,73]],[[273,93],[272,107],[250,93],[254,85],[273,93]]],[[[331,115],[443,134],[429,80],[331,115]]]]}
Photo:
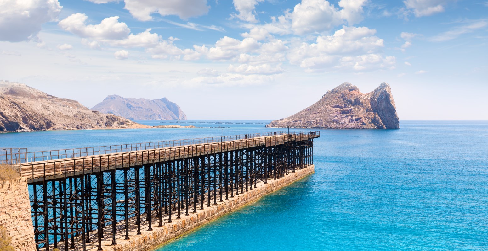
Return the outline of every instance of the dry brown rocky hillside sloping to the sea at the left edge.
{"type": "Polygon", "coordinates": [[[149,127],[24,84],[0,82],[0,132],[149,127]]]}

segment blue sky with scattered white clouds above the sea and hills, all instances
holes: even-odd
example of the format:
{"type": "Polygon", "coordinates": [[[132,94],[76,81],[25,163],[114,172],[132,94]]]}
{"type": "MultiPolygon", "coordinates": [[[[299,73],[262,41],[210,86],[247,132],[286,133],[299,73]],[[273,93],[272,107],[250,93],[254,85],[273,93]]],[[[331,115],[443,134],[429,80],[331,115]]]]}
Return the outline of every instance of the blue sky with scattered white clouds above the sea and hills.
{"type": "Polygon", "coordinates": [[[279,119],[343,82],[401,120],[487,120],[487,0],[0,0],[0,79],[93,107],[279,119]]]}

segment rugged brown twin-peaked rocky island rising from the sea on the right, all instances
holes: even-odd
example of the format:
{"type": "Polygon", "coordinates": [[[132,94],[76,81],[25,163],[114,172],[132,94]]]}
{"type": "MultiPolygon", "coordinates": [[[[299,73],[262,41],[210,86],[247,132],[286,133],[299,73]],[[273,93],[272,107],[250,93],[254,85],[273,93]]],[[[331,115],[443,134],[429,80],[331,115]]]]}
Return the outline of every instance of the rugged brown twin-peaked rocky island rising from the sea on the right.
{"type": "Polygon", "coordinates": [[[398,129],[391,89],[385,82],[363,94],[350,83],[328,90],[312,106],[265,127],[398,129]]]}

